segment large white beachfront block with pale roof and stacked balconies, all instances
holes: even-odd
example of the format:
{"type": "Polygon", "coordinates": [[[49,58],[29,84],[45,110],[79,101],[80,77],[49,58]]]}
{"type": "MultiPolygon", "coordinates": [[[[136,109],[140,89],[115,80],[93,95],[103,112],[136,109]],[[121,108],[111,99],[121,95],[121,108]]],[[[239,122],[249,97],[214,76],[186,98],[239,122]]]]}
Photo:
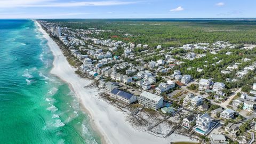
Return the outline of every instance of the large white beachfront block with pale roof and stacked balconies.
{"type": "Polygon", "coordinates": [[[143,91],[138,98],[139,104],[151,109],[159,109],[163,107],[163,97],[159,97],[153,93],[143,91]]]}

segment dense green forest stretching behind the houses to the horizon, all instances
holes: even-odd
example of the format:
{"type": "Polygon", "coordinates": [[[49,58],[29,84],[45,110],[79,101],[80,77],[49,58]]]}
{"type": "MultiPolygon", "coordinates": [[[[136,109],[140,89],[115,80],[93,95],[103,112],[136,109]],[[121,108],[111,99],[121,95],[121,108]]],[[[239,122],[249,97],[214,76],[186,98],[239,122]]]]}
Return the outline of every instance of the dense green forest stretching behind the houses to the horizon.
{"type": "Polygon", "coordinates": [[[155,47],[181,46],[188,43],[229,41],[234,44],[256,44],[256,20],[233,19],[53,19],[62,27],[101,29],[111,32],[92,34],[96,38],[111,38],[155,47]],[[130,34],[131,36],[125,36],[130,34]]]}

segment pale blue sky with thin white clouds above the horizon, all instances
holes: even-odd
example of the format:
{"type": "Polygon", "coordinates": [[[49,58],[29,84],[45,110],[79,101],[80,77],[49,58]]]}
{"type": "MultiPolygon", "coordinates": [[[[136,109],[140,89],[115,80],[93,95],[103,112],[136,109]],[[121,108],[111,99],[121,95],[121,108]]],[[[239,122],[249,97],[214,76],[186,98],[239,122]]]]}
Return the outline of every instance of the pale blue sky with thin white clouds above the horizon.
{"type": "Polygon", "coordinates": [[[0,0],[0,19],[255,18],[255,0],[0,0]]]}

